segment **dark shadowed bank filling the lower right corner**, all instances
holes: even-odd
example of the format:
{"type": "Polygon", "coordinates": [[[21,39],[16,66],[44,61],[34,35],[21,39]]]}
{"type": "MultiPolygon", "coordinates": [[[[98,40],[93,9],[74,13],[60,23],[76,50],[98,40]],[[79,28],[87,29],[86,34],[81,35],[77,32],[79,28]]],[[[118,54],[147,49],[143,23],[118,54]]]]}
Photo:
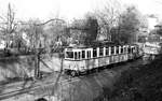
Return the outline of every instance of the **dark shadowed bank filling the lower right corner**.
{"type": "Polygon", "coordinates": [[[94,101],[162,101],[162,55],[149,64],[122,73],[111,93],[94,101]]]}

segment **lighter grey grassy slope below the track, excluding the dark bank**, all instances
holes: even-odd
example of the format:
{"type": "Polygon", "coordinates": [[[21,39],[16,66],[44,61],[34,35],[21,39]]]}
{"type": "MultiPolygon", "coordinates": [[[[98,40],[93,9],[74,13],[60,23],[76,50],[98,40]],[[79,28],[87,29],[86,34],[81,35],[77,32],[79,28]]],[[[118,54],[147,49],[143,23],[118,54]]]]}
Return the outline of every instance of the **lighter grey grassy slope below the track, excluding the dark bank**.
{"type": "MultiPolygon", "coordinates": [[[[106,99],[107,97],[111,97],[117,88],[116,84],[118,84],[118,81],[120,81],[120,77],[124,71],[130,71],[130,67],[141,63],[143,61],[139,59],[114,66],[113,68],[108,67],[108,69],[102,70],[98,73],[92,73],[90,75],[77,76],[72,78],[69,78],[67,75],[62,75],[57,83],[55,83],[56,76],[52,75],[51,77],[45,78],[46,82],[40,81],[40,83],[35,83],[40,85],[39,88],[24,95],[22,93],[10,99],[4,99],[3,101],[33,101],[35,99],[42,97],[46,99],[49,97],[53,97],[53,99],[55,99],[54,101],[103,101],[103,98],[106,99]],[[50,81],[53,81],[54,84],[46,85],[45,83],[50,81]]],[[[26,87],[29,84],[31,83],[22,83],[18,88],[26,87]]],[[[11,89],[13,88],[11,87],[11,89]]],[[[8,91],[9,87],[2,90],[2,92],[8,91]]]]}

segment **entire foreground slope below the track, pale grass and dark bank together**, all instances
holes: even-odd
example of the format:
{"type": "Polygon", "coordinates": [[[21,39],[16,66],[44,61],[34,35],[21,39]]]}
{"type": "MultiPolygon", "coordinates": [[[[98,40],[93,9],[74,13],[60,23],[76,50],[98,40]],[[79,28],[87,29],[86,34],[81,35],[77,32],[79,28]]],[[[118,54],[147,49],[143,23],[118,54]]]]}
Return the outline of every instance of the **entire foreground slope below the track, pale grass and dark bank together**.
{"type": "MultiPolygon", "coordinates": [[[[158,56],[156,60],[143,64],[139,59],[72,78],[62,75],[56,84],[46,85],[56,81],[57,77],[52,75],[35,83],[40,85],[39,88],[2,101],[35,101],[42,97],[53,97],[54,101],[161,101],[161,60],[162,56],[158,56]]],[[[22,83],[21,87],[29,84],[22,83]]],[[[8,86],[5,88],[2,92],[10,90],[8,86]]]]}

